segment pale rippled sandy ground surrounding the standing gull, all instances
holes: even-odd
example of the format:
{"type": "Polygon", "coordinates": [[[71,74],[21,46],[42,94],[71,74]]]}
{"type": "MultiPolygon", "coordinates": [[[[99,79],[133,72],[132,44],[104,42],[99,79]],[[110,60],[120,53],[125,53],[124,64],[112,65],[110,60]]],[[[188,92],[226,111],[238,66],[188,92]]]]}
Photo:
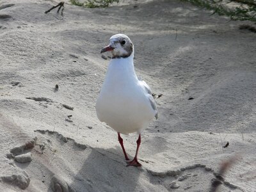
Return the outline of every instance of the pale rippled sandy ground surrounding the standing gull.
{"type": "MultiPolygon", "coordinates": [[[[57,3],[0,1],[1,191],[256,191],[255,33],[179,1],[44,13],[57,3]],[[99,52],[116,33],[163,94],[141,168],[125,166],[95,113],[109,63],[99,52]]],[[[130,157],[136,139],[124,136],[130,157]]]]}

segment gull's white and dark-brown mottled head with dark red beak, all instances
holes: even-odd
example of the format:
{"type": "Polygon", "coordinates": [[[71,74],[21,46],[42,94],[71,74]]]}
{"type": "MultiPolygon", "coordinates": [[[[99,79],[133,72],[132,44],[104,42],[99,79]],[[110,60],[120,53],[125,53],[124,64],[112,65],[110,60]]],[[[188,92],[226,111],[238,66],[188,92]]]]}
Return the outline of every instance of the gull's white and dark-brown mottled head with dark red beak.
{"type": "Polygon", "coordinates": [[[112,52],[112,58],[127,58],[134,52],[133,44],[130,38],[124,34],[116,34],[109,39],[109,45],[104,47],[102,52],[112,52]]]}

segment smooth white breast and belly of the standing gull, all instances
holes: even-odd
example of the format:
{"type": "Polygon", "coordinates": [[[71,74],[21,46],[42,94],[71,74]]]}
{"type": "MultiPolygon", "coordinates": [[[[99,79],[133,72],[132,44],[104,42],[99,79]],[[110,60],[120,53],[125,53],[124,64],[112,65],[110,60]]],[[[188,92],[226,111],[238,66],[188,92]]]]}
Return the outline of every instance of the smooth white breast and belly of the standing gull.
{"type": "Polygon", "coordinates": [[[100,121],[122,134],[140,132],[156,112],[134,72],[133,56],[113,59],[96,103],[100,121]]]}

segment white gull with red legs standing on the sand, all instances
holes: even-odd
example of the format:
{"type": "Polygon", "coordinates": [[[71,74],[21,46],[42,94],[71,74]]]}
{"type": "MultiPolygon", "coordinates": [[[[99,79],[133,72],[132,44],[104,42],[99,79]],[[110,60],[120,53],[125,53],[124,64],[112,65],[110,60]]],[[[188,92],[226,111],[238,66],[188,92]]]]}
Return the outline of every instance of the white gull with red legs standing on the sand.
{"type": "Polygon", "coordinates": [[[105,122],[118,133],[118,141],[129,161],[120,134],[138,132],[136,154],[127,166],[141,166],[138,151],[141,132],[150,120],[157,119],[156,102],[150,87],[136,76],[134,71],[134,45],[124,34],[116,34],[109,39],[109,45],[100,53],[111,51],[112,58],[96,102],[96,113],[100,122],[105,122]]]}

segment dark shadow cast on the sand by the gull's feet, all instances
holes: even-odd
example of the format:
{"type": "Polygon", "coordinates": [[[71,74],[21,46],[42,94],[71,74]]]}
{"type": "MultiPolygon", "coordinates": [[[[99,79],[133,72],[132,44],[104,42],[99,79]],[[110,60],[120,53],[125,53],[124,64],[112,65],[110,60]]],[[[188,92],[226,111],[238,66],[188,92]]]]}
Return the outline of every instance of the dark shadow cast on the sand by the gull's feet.
{"type": "Polygon", "coordinates": [[[74,191],[136,191],[141,168],[127,167],[115,148],[91,148],[83,166],[68,186],[74,191]],[[115,181],[115,182],[113,182],[115,181]]]}

